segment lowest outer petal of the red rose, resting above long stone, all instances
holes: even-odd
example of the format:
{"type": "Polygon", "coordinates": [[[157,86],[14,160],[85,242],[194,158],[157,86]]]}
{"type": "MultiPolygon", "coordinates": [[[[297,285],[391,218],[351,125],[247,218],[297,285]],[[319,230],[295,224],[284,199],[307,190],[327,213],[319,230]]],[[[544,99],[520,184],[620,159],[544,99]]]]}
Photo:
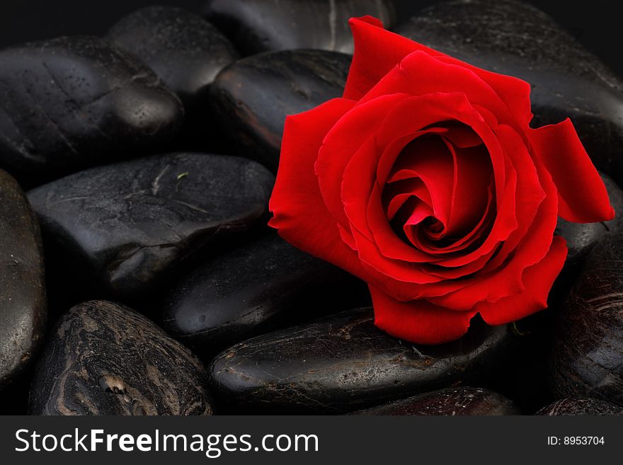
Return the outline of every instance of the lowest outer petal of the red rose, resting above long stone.
{"type": "Polygon", "coordinates": [[[421,299],[399,302],[370,286],[375,325],[396,338],[418,344],[441,344],[467,333],[474,311],[453,311],[421,299]]]}

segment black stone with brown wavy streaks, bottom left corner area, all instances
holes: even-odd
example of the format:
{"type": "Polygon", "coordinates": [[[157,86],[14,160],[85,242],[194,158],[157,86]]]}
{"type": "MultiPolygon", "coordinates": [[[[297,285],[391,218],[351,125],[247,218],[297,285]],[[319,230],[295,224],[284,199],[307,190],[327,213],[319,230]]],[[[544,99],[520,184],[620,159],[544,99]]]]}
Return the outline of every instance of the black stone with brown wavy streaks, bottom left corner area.
{"type": "Polygon", "coordinates": [[[135,311],[74,306],[47,341],[30,391],[34,415],[210,415],[197,357],[135,311]]]}

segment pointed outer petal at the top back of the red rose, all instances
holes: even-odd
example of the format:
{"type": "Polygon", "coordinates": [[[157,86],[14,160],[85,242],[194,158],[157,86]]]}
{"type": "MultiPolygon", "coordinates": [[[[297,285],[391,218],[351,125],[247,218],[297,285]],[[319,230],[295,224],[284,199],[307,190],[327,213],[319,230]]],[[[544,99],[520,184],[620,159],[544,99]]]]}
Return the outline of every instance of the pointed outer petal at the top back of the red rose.
{"type": "Polygon", "coordinates": [[[355,53],[344,88],[344,98],[359,100],[375,86],[406,55],[417,50],[437,57],[445,63],[458,64],[474,71],[508,106],[518,122],[527,125],[532,120],[530,84],[513,76],[505,76],[471,66],[442,52],[413,40],[391,33],[382,23],[370,16],[351,18],[350,28],[355,41],[355,53]]]}

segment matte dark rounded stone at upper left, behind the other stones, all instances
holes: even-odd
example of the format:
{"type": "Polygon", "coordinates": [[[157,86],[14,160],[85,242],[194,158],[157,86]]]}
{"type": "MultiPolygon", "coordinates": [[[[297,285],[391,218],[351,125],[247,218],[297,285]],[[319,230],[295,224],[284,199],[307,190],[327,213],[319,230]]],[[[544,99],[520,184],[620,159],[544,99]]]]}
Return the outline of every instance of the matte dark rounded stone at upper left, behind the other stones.
{"type": "Polygon", "coordinates": [[[147,6],[121,18],[106,36],[160,76],[185,107],[198,105],[218,72],[237,58],[215,26],[174,6],[147,6]]]}

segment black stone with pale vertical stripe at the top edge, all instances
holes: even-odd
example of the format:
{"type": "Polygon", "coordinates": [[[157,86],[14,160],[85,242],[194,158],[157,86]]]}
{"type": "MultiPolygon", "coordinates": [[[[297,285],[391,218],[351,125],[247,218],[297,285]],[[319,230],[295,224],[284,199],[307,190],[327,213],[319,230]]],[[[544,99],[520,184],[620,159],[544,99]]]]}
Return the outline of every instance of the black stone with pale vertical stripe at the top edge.
{"type": "Polygon", "coordinates": [[[388,0],[211,0],[207,18],[244,54],[311,48],[353,52],[348,20],[371,15],[391,28],[388,0]]]}

